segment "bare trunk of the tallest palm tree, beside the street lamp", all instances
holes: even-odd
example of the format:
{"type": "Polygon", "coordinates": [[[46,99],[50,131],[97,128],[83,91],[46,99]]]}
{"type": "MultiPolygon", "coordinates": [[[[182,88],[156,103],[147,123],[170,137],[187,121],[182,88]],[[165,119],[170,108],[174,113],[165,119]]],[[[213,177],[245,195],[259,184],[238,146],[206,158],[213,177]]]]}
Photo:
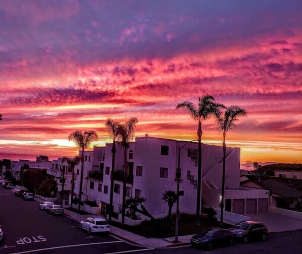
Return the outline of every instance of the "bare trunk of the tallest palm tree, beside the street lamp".
{"type": "Polygon", "coordinates": [[[198,122],[198,168],[197,168],[197,200],[196,200],[196,225],[200,224],[200,197],[202,187],[202,122],[198,122]]]}

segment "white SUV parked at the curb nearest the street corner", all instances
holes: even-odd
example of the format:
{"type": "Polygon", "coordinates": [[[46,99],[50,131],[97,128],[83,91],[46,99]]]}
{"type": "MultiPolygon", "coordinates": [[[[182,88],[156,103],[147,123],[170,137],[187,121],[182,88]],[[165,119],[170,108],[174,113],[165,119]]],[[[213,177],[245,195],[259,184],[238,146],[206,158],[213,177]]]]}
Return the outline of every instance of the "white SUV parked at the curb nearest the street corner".
{"type": "Polygon", "coordinates": [[[88,217],[87,219],[80,222],[79,227],[91,233],[109,232],[110,226],[106,219],[99,216],[88,217]]]}

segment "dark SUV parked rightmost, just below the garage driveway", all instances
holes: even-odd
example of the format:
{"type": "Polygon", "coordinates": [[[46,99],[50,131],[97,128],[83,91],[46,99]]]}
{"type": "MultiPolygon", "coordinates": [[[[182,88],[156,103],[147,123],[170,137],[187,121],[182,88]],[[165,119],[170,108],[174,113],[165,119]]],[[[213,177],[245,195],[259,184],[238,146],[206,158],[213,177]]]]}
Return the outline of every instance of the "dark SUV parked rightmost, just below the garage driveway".
{"type": "Polygon", "coordinates": [[[262,222],[257,221],[241,221],[229,230],[235,233],[235,237],[243,242],[252,239],[265,241],[269,234],[267,227],[262,222]]]}

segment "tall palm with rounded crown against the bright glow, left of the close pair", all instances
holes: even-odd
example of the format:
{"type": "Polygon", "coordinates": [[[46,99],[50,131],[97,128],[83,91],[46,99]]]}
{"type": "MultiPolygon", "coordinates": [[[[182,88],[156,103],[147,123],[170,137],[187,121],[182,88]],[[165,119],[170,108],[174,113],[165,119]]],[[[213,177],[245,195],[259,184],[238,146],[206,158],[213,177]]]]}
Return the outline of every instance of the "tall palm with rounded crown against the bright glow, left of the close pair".
{"type": "Polygon", "coordinates": [[[94,131],[75,131],[68,136],[69,141],[74,141],[79,149],[82,150],[81,155],[81,179],[80,179],[80,190],[79,190],[79,207],[81,207],[81,196],[83,187],[83,171],[84,171],[84,150],[90,145],[92,141],[97,141],[97,134],[94,131]]]}

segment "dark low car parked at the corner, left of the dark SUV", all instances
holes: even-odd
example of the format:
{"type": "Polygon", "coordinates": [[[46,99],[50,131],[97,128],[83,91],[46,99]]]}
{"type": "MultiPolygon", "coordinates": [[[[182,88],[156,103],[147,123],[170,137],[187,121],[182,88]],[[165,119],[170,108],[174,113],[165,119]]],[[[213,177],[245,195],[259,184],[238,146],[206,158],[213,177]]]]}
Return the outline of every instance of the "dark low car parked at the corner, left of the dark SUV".
{"type": "Polygon", "coordinates": [[[207,247],[209,250],[218,245],[234,245],[235,234],[224,228],[208,228],[201,233],[192,236],[193,246],[207,247]]]}

